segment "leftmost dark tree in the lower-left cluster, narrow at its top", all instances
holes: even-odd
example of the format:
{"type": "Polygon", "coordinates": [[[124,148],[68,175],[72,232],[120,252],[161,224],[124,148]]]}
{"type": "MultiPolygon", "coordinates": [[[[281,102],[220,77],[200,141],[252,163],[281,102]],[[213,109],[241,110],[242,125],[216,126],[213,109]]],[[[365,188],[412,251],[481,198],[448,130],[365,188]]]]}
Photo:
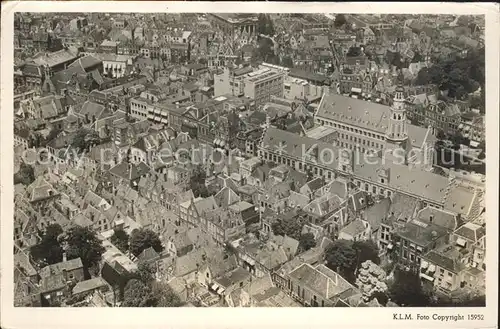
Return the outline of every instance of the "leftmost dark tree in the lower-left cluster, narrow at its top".
{"type": "Polygon", "coordinates": [[[31,247],[31,256],[41,266],[62,262],[64,250],[59,241],[63,230],[59,224],[50,224],[39,244],[31,247]]]}

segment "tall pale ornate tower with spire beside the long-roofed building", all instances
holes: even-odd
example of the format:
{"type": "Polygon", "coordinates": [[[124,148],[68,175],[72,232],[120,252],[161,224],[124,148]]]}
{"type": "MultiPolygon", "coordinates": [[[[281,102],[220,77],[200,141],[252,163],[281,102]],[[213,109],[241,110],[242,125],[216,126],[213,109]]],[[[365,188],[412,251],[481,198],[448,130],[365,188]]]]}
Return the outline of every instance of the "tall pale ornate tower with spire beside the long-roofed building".
{"type": "Polygon", "coordinates": [[[408,139],[404,88],[401,85],[396,87],[396,95],[389,115],[386,139],[387,142],[397,145],[403,144],[408,139]]]}

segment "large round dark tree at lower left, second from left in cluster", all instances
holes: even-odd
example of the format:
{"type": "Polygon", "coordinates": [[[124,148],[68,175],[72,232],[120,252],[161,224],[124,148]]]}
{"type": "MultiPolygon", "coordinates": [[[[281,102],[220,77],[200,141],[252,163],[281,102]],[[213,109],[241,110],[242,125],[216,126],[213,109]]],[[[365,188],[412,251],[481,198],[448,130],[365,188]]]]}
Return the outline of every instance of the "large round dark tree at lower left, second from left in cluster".
{"type": "Polygon", "coordinates": [[[66,233],[65,241],[68,260],[79,257],[87,271],[99,264],[105,251],[96,233],[88,227],[71,227],[66,233]]]}

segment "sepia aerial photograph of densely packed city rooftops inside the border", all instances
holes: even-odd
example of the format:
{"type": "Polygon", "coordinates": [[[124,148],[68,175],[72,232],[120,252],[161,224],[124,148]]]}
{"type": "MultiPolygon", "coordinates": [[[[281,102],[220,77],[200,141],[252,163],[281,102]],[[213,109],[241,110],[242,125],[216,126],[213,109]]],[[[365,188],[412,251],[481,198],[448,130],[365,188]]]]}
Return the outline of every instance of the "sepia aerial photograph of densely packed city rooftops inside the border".
{"type": "Polygon", "coordinates": [[[15,13],[14,305],[485,306],[484,35],[15,13]]]}

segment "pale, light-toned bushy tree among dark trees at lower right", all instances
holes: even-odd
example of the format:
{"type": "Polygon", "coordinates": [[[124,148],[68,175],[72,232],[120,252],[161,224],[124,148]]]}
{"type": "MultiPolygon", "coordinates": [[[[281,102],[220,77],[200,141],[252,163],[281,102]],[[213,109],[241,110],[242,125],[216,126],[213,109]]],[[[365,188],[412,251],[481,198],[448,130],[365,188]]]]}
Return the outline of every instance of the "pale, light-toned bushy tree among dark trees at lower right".
{"type": "Polygon", "coordinates": [[[365,302],[387,292],[386,277],[385,271],[372,261],[367,260],[361,264],[356,285],[361,290],[365,302]]]}

